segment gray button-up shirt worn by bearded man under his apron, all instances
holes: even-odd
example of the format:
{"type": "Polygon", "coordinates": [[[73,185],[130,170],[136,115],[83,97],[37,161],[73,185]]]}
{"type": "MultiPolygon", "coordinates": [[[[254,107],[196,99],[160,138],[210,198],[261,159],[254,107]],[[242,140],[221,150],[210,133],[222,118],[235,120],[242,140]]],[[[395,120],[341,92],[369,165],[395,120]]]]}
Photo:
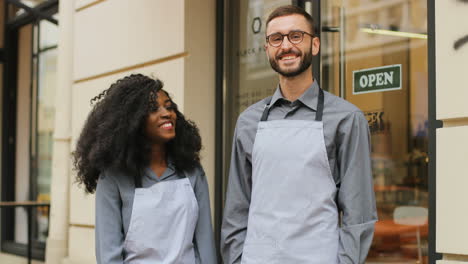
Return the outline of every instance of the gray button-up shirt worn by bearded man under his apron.
{"type": "MultiPolygon", "coordinates": [[[[318,89],[314,82],[298,100],[290,102],[278,86],[271,98],[268,120],[315,120],[318,89]]],[[[242,258],[252,191],[252,149],[265,102],[261,100],[242,112],[234,132],[221,229],[225,264],[240,263],[242,258]]],[[[325,92],[323,127],[328,161],[338,188],[336,201],[342,213],[339,263],[364,263],[377,220],[368,123],[356,106],[325,92]]]]}

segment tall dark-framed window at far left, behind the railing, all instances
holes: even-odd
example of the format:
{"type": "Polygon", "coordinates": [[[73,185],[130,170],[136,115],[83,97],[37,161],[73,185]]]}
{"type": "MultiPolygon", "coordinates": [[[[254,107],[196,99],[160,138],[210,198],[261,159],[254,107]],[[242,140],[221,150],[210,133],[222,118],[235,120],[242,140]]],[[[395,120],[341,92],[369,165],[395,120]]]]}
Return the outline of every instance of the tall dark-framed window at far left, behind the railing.
{"type": "MultiPolygon", "coordinates": [[[[14,170],[14,200],[17,202],[50,201],[57,36],[57,25],[45,20],[18,29],[14,170]]],[[[28,242],[28,214],[23,207],[12,210],[14,213],[10,209],[3,211],[7,215],[5,219],[14,219],[13,232],[5,232],[4,247],[11,253],[23,254],[18,249],[28,242]]],[[[43,257],[49,208],[35,207],[31,212],[33,254],[43,257]]]]}

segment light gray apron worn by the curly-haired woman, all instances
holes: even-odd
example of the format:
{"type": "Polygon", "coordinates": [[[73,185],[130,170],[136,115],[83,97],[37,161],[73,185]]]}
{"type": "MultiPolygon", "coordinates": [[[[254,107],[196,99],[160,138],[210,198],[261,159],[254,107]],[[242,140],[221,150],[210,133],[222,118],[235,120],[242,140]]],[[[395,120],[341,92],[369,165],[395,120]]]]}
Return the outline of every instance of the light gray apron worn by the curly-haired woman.
{"type": "Polygon", "coordinates": [[[135,189],[126,264],[195,264],[198,203],[188,178],[135,189]]]}

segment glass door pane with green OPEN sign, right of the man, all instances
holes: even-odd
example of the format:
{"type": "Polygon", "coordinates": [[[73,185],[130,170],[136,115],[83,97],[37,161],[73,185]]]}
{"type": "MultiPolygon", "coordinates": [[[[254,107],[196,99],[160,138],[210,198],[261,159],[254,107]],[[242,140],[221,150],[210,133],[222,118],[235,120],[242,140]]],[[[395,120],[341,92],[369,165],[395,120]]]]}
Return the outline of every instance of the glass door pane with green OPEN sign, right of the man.
{"type": "Polygon", "coordinates": [[[371,129],[379,221],[367,263],[427,263],[426,1],[322,3],[323,26],[345,25],[322,34],[323,83],[342,84],[335,94],[371,129]]]}

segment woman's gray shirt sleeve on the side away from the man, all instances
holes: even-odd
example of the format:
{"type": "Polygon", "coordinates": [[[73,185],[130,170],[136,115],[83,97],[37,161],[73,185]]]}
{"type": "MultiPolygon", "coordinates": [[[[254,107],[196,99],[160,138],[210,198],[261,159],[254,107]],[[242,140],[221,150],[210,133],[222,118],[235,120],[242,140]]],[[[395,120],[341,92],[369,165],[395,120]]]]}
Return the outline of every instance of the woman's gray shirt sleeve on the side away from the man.
{"type": "Polygon", "coordinates": [[[96,261],[123,264],[122,201],[115,179],[102,173],[96,188],[96,261]]]}

